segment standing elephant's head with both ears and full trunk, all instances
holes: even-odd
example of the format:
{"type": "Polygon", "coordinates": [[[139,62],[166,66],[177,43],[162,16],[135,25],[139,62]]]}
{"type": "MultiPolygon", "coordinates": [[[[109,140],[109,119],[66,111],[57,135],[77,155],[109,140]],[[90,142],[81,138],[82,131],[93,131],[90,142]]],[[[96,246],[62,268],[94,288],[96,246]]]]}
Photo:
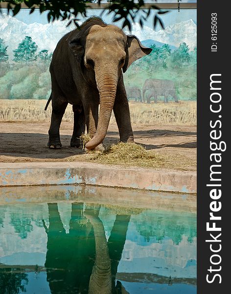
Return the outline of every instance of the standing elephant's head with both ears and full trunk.
{"type": "Polygon", "coordinates": [[[152,49],[142,46],[136,36],[126,35],[117,26],[106,25],[102,21],[87,25],[82,34],[77,34],[69,42],[69,47],[99,92],[96,133],[86,144],[88,149],[93,149],[106,136],[122,71],[125,73],[135,60],[149,54],[152,49]]]}

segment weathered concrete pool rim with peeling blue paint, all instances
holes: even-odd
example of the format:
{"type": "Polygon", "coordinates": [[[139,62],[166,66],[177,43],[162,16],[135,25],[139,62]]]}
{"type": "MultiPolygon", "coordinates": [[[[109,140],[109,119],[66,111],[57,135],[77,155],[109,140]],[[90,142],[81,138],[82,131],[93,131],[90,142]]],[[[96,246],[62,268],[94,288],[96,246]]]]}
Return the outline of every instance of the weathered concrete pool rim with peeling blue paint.
{"type": "Polygon", "coordinates": [[[0,163],[0,186],[62,184],[196,193],[196,172],[122,168],[86,162],[0,163]]]}

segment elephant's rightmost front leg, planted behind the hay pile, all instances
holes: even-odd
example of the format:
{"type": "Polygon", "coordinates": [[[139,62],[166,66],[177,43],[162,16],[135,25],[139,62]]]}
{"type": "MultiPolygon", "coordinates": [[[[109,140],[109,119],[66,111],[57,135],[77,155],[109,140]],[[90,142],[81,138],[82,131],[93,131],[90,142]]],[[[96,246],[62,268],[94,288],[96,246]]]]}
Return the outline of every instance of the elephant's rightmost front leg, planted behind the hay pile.
{"type": "Polygon", "coordinates": [[[119,129],[120,142],[134,142],[129,104],[126,91],[123,85],[117,86],[115,104],[113,107],[115,120],[119,129]]]}

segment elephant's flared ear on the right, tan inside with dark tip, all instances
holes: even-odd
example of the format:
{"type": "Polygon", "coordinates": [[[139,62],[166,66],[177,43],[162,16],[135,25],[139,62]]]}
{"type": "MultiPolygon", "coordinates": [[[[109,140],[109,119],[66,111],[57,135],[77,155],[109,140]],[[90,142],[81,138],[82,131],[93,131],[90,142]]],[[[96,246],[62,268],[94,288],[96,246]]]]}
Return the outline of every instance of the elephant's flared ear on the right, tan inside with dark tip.
{"type": "Polygon", "coordinates": [[[139,58],[146,56],[152,52],[151,48],[145,47],[141,44],[139,39],[134,35],[127,35],[127,44],[125,47],[126,58],[123,66],[123,72],[130,67],[130,65],[139,58]]]}

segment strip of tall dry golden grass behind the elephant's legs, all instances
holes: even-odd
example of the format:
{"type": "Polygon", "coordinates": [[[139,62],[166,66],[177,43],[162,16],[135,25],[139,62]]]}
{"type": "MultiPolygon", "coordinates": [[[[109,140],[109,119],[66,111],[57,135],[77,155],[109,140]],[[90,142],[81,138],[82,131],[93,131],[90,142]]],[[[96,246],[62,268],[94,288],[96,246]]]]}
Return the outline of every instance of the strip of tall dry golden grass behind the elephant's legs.
{"type": "MultiPolygon", "coordinates": [[[[46,111],[44,110],[45,105],[46,100],[1,99],[0,121],[49,122],[51,105],[46,111]]],[[[134,125],[196,125],[196,101],[168,102],[167,104],[130,101],[129,105],[131,121],[134,125]]],[[[70,122],[72,120],[73,113],[71,105],[69,105],[63,121],[70,122]]],[[[111,117],[110,124],[115,124],[114,115],[111,117]]]]}

